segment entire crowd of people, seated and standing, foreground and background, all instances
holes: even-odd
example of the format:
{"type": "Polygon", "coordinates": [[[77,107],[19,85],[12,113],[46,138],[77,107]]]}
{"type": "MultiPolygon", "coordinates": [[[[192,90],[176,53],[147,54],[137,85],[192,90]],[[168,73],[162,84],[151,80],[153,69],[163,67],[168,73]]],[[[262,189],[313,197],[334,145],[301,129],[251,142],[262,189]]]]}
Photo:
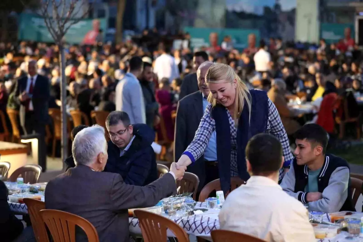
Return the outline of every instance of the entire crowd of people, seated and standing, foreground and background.
{"type": "MultiPolygon", "coordinates": [[[[67,171],[48,183],[46,208],[86,218],[100,241],[128,241],[126,209],[175,193],[187,170],[199,177],[198,193],[215,179],[224,192],[231,177],[246,181],[225,201],[221,229],[266,241],[313,241],[302,204],[355,211],[348,162],[327,154],[345,134],[341,122],[360,122],[363,55],[350,29],[330,46],[270,39],[257,47],[251,34],[242,52],[229,37],[197,50],[188,34],[182,38],[180,49],[155,46],[147,31],[139,45],[67,48],[67,110],[83,112],[89,124],[93,110],[110,114],[106,130],[74,127],[67,171]],[[301,112],[289,102],[314,108],[301,112]],[[174,154],[170,175],[160,179],[155,140],[174,154]]],[[[48,109],[61,105],[57,46],[0,44],[0,56],[0,110],[19,110],[23,133],[45,136],[48,109]]],[[[12,130],[8,117],[5,126],[12,130]]]]}

